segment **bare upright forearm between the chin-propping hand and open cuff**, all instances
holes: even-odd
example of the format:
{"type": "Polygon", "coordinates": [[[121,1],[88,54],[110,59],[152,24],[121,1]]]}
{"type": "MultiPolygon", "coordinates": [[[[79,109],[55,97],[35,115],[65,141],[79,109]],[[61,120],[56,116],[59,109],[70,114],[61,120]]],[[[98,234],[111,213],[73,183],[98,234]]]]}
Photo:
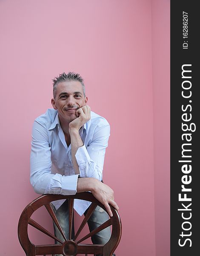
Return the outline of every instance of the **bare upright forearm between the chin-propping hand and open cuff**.
{"type": "Polygon", "coordinates": [[[83,141],[81,140],[79,131],[77,131],[75,129],[71,129],[71,130],[69,130],[69,133],[70,133],[70,137],[71,137],[71,158],[72,158],[74,171],[75,171],[75,174],[80,174],[79,166],[77,164],[75,154],[76,154],[78,148],[83,146],[83,141]]]}

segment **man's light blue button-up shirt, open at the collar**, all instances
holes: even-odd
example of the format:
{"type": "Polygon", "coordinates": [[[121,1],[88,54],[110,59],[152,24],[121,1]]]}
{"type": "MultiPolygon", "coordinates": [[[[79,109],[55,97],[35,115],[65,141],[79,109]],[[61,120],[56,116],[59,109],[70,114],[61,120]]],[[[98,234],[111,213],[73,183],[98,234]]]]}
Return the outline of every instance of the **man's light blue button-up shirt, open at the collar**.
{"type": "MultiPolygon", "coordinates": [[[[83,146],[75,157],[80,177],[102,180],[104,156],[110,135],[110,125],[105,118],[91,111],[91,119],[80,128],[83,146]]],[[[48,109],[34,120],[31,142],[31,185],[37,194],[74,195],[77,179],[71,160],[71,144],[66,144],[58,112],[48,109]]],[[[56,209],[65,200],[54,201],[56,209]]],[[[90,203],[74,200],[74,209],[82,215],[90,203]]]]}

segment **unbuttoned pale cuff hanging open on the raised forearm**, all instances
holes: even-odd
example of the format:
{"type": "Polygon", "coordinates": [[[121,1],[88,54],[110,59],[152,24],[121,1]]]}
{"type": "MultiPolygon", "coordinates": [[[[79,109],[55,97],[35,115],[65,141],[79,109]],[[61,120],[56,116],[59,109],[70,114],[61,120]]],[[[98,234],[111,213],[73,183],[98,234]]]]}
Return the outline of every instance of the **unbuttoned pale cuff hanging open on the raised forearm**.
{"type": "Polygon", "coordinates": [[[85,145],[77,149],[75,157],[79,166],[80,177],[87,177],[85,166],[90,161],[90,156],[85,145]]]}

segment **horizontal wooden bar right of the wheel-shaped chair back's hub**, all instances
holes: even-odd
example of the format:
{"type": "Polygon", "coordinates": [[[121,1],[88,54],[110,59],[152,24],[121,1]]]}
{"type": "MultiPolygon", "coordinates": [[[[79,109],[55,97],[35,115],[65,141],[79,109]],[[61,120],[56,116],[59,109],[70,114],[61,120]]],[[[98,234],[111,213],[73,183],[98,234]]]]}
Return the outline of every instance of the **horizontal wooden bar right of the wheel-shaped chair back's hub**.
{"type": "Polygon", "coordinates": [[[103,254],[103,244],[78,244],[77,254],[103,254]]]}

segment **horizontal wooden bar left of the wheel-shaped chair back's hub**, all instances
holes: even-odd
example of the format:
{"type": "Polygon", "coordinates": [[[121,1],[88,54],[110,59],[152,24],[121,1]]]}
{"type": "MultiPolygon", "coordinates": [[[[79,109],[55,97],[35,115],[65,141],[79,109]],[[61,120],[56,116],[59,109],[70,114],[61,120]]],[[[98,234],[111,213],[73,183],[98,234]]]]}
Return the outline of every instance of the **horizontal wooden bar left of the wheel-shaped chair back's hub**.
{"type": "Polygon", "coordinates": [[[62,254],[63,247],[60,244],[46,244],[46,245],[36,245],[35,255],[54,255],[62,254]]]}

